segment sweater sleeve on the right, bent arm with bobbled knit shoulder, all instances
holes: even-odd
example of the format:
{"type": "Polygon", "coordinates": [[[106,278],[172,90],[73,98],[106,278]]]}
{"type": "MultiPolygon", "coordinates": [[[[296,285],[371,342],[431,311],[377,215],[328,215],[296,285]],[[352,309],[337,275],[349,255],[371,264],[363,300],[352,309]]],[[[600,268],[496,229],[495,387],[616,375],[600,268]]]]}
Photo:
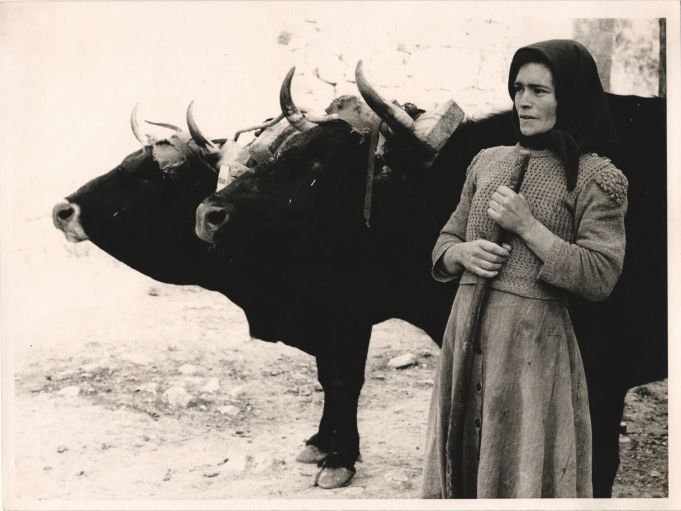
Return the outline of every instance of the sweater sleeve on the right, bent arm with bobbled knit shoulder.
{"type": "Polygon", "coordinates": [[[612,165],[591,178],[577,196],[575,242],[556,239],[537,278],[587,300],[605,300],[624,263],[626,192],[624,174],[612,165]]]}

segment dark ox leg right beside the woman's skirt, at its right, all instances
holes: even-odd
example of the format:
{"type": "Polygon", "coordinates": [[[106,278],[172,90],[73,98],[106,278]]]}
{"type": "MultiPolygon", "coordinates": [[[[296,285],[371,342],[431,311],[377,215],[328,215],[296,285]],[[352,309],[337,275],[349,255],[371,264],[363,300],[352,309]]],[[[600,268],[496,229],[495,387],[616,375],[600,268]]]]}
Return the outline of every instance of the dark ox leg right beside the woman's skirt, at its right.
{"type": "Polygon", "coordinates": [[[612,496],[612,485],[620,463],[619,429],[626,391],[608,390],[601,386],[589,394],[593,435],[593,495],[595,498],[607,498],[612,496]]]}

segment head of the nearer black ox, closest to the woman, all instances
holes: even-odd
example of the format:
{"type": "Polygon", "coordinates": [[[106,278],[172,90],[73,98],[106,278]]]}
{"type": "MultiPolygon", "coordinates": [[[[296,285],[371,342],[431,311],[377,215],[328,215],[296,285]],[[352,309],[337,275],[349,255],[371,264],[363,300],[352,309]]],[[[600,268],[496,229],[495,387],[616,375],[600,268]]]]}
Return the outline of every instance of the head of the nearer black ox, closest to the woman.
{"type": "Polygon", "coordinates": [[[261,248],[282,244],[290,250],[280,254],[298,261],[338,250],[341,226],[362,218],[366,142],[380,119],[354,96],[338,98],[324,116],[307,114],[291,98],[293,73],[281,86],[280,104],[296,136],[197,210],[197,235],[229,250],[231,258],[252,260],[261,248]],[[320,237],[327,245],[311,247],[320,237]]]}

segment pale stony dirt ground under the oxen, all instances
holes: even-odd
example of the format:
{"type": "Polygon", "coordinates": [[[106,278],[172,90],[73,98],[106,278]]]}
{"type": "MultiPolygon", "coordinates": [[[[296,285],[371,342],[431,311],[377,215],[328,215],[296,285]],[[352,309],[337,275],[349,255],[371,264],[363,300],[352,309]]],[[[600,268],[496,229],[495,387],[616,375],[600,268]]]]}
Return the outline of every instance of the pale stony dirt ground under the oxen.
{"type": "MultiPolygon", "coordinates": [[[[29,353],[18,368],[17,499],[418,496],[438,354],[421,331],[374,328],[359,412],[364,461],[349,487],[322,490],[312,486],[316,467],[294,461],[321,413],[311,357],[250,339],[241,311],[199,288],[152,283],[121,296],[139,313],[132,324],[104,311],[100,334],[85,329],[79,346],[29,353]],[[417,363],[388,366],[405,353],[417,363]]],[[[614,494],[666,496],[666,382],[633,389],[624,420],[614,494]]]]}

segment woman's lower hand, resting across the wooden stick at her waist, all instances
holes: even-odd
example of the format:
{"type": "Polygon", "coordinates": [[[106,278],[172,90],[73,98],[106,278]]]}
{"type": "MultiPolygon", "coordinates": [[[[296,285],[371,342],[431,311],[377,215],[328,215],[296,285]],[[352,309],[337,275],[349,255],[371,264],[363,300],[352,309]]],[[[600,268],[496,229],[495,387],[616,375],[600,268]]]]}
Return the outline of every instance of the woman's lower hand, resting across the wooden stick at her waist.
{"type": "Polygon", "coordinates": [[[484,278],[496,277],[503,262],[511,253],[511,245],[497,245],[487,240],[457,243],[442,256],[442,264],[448,273],[456,274],[463,266],[469,272],[484,278]]]}

